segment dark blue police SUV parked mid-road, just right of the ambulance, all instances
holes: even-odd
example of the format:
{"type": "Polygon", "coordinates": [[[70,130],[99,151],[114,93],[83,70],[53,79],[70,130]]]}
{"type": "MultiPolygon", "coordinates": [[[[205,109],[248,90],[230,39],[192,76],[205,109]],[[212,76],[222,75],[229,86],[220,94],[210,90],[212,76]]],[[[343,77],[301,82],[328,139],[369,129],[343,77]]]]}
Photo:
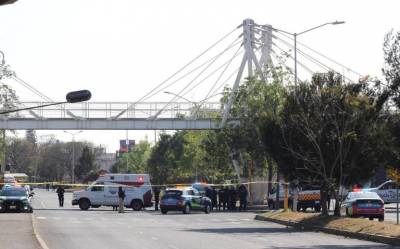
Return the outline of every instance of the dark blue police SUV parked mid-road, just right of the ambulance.
{"type": "Polygon", "coordinates": [[[168,211],[182,211],[184,214],[189,214],[192,210],[208,214],[211,212],[211,199],[202,196],[194,188],[167,189],[161,197],[160,209],[162,214],[167,214],[168,211]]]}

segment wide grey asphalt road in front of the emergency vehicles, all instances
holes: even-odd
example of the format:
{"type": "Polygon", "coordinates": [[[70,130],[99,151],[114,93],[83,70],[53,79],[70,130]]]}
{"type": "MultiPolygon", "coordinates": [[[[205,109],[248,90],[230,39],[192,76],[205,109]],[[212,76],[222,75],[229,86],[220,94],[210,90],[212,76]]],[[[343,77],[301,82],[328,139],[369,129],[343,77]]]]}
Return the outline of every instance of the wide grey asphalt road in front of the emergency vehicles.
{"type": "Polygon", "coordinates": [[[35,192],[37,231],[50,249],[393,248],[256,221],[251,212],[80,211],[70,205],[71,194],[66,195],[65,207],[58,208],[56,193],[35,192]]]}

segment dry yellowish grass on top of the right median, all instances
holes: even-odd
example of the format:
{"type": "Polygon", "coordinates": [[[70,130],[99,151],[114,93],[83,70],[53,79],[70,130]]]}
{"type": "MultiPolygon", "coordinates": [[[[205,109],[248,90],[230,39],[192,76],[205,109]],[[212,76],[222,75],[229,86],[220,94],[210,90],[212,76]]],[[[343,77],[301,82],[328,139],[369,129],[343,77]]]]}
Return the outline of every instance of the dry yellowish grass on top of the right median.
{"type": "Polygon", "coordinates": [[[263,216],[277,220],[302,222],[307,225],[400,238],[400,225],[363,218],[322,216],[318,213],[267,212],[263,216]]]}

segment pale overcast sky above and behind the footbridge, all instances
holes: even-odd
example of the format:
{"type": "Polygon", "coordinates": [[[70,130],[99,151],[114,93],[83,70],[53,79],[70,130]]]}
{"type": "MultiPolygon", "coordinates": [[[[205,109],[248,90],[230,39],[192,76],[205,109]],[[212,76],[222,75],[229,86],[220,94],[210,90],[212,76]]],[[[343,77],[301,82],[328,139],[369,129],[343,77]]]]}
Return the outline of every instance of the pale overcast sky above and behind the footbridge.
{"type": "MultiPolygon", "coordinates": [[[[58,101],[89,89],[91,101],[135,101],[246,18],[289,32],[335,20],[298,40],[347,67],[383,78],[382,43],[400,30],[399,1],[356,0],[19,0],[0,7],[0,50],[25,80],[58,101]]],[[[6,82],[14,87],[15,82],[6,82]]],[[[230,86],[232,82],[228,82],[230,86]]],[[[199,100],[200,92],[187,98],[199,100]]],[[[24,101],[38,101],[15,85],[24,101]]],[[[159,94],[152,100],[167,100],[159,94]]],[[[63,131],[38,131],[39,136],[63,131]]],[[[129,131],[154,140],[154,131],[129,131]]],[[[126,131],[84,131],[76,140],[118,149],[126,131]]]]}

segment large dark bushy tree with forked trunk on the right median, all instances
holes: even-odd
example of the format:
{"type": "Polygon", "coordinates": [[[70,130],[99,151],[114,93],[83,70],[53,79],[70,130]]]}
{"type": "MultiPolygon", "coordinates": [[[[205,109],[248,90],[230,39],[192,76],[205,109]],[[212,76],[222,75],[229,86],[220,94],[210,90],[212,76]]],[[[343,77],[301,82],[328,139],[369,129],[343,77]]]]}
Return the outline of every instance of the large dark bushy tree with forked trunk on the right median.
{"type": "Polygon", "coordinates": [[[339,213],[339,186],[369,179],[380,161],[380,113],[388,99],[369,82],[343,83],[335,73],[316,74],[289,92],[282,113],[284,149],[294,159],[286,173],[311,176],[339,213]]]}

